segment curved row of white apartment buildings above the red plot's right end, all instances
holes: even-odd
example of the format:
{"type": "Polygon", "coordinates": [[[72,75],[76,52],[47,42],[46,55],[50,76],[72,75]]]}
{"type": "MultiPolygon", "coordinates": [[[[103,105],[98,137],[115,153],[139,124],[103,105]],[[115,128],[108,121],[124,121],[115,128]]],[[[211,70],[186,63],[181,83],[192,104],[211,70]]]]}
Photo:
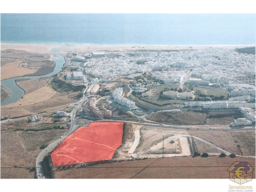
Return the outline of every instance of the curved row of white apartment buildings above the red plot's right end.
{"type": "Polygon", "coordinates": [[[130,101],[129,99],[126,99],[124,97],[122,97],[123,95],[123,88],[117,88],[115,89],[113,95],[112,95],[112,99],[115,103],[117,103],[118,105],[127,107],[129,109],[133,109],[136,108],[135,106],[135,102],[130,101]]]}

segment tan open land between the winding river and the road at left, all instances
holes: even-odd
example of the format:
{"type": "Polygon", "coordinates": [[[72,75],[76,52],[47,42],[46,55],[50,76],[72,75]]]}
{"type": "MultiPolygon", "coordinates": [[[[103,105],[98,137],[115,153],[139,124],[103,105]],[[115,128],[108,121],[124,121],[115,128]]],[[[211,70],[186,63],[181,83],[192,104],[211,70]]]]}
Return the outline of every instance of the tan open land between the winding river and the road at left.
{"type": "Polygon", "coordinates": [[[15,103],[0,107],[0,116],[20,117],[35,115],[44,111],[51,111],[66,107],[74,103],[80,92],[55,91],[51,86],[52,78],[30,79],[18,82],[26,91],[23,98],[15,103]]]}

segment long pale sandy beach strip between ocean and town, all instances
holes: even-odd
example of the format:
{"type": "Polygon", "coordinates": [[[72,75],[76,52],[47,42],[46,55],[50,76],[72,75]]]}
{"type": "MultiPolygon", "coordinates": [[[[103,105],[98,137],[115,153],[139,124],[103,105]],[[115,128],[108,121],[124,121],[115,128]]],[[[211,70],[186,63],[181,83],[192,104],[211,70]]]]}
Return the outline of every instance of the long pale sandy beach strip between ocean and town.
{"type": "Polygon", "coordinates": [[[202,50],[209,47],[222,48],[222,49],[234,49],[235,47],[251,47],[249,45],[89,45],[89,44],[77,44],[77,45],[43,45],[43,44],[11,44],[0,43],[0,51],[6,49],[24,50],[30,53],[50,54],[51,49],[54,47],[60,47],[61,53],[71,52],[76,50],[77,52],[92,52],[92,51],[127,51],[127,50],[202,50]]]}

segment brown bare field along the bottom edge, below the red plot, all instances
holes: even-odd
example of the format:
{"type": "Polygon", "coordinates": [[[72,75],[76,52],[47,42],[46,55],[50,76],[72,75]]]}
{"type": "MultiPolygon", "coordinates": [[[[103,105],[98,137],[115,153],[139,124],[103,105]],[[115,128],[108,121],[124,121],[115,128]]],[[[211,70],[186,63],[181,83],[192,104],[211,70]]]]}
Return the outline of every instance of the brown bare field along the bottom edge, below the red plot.
{"type": "MultiPolygon", "coordinates": [[[[94,165],[57,171],[56,179],[229,179],[226,171],[235,161],[249,162],[255,159],[229,157],[173,157],[147,159],[121,163],[94,165]]],[[[253,173],[255,178],[255,171],[253,173]]]]}

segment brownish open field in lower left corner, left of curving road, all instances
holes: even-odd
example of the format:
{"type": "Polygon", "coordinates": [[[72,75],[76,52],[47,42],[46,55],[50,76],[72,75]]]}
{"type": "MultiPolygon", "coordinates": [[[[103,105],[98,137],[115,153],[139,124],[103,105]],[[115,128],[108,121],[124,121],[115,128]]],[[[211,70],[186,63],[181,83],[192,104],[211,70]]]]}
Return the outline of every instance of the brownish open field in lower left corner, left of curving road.
{"type": "MultiPolygon", "coordinates": [[[[27,126],[23,128],[26,129],[27,126]]],[[[0,179],[34,179],[33,167],[41,152],[39,148],[59,139],[66,132],[67,130],[0,131],[0,167],[5,167],[1,168],[0,179]],[[13,169],[14,167],[19,169],[13,169]]]]}

